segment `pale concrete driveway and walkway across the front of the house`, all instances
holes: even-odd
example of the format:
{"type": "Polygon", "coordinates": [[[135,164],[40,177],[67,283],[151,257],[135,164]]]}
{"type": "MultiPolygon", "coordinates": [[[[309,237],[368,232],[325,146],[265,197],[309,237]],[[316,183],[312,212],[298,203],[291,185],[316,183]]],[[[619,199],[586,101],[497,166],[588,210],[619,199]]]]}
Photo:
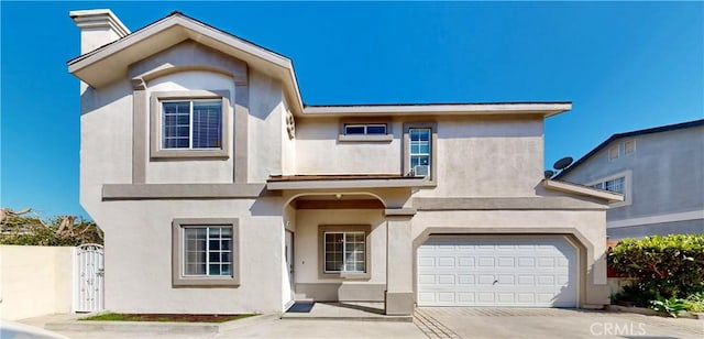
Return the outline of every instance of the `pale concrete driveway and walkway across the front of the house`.
{"type": "MultiPolygon", "coordinates": [[[[326,304],[321,304],[326,305],[326,304]]],[[[330,308],[328,308],[330,307],[330,308]]],[[[343,313],[321,306],[320,310],[343,313]]],[[[352,308],[354,309],[354,308],[352,308]]],[[[365,313],[363,314],[365,315],[365,313]]],[[[704,320],[673,319],[630,313],[580,309],[420,307],[414,322],[315,320],[265,315],[224,322],[205,332],[169,324],[114,324],[56,329],[82,338],[704,338],[704,320]],[[120,328],[122,326],[122,328],[120,328]],[[160,328],[161,327],[161,328],[160,328]],[[166,327],[166,328],[164,328],[166,327]]],[[[74,315],[54,315],[20,322],[51,328],[74,315]]],[[[74,321],[75,322],[75,321],[74,321]]],[[[207,326],[212,326],[207,325],[207,326]]]]}

